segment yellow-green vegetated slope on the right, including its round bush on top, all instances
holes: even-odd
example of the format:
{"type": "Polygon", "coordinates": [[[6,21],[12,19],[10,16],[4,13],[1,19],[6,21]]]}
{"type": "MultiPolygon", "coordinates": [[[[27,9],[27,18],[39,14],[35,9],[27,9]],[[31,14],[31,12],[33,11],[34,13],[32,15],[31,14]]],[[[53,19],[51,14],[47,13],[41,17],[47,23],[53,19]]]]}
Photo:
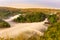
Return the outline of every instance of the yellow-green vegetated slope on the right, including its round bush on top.
{"type": "Polygon", "coordinates": [[[60,19],[57,15],[50,15],[49,22],[50,26],[45,31],[42,40],[60,40],[60,19]]]}

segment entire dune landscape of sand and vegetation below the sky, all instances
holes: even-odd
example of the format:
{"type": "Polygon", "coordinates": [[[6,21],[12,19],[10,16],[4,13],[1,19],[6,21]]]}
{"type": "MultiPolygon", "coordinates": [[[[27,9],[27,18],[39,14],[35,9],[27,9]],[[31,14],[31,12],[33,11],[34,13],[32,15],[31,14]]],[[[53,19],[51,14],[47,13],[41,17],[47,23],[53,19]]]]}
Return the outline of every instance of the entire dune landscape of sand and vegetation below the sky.
{"type": "Polygon", "coordinates": [[[60,40],[59,9],[0,7],[1,18],[0,40],[60,40]]]}

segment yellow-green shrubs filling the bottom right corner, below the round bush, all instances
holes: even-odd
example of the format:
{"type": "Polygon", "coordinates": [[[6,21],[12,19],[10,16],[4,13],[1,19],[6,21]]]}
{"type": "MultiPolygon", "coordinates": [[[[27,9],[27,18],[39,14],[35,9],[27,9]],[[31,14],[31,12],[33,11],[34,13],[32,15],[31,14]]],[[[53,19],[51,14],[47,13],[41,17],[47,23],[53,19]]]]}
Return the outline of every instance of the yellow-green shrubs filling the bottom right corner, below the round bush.
{"type": "Polygon", "coordinates": [[[45,40],[60,40],[60,23],[49,26],[44,34],[45,40]]]}

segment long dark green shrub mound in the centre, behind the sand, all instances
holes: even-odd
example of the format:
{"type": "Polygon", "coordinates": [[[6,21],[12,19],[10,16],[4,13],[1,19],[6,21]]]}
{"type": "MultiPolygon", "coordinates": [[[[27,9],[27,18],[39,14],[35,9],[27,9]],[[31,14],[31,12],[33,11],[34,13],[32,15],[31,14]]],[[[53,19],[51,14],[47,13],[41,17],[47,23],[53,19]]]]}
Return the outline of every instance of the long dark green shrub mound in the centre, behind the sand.
{"type": "Polygon", "coordinates": [[[22,22],[22,23],[26,23],[26,22],[41,22],[43,20],[45,20],[46,18],[46,14],[42,13],[42,12],[37,12],[37,13],[26,13],[26,14],[22,14],[21,16],[19,16],[17,19],[14,19],[15,22],[22,22]]]}

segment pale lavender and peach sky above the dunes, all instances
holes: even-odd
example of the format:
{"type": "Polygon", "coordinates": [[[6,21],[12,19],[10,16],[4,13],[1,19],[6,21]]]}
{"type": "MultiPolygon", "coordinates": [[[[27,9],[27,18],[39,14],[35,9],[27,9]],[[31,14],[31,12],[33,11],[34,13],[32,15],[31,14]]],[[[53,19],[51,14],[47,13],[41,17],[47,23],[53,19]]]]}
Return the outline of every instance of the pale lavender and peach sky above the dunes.
{"type": "Polygon", "coordinates": [[[0,0],[0,6],[16,8],[60,8],[60,0],[0,0]]]}

